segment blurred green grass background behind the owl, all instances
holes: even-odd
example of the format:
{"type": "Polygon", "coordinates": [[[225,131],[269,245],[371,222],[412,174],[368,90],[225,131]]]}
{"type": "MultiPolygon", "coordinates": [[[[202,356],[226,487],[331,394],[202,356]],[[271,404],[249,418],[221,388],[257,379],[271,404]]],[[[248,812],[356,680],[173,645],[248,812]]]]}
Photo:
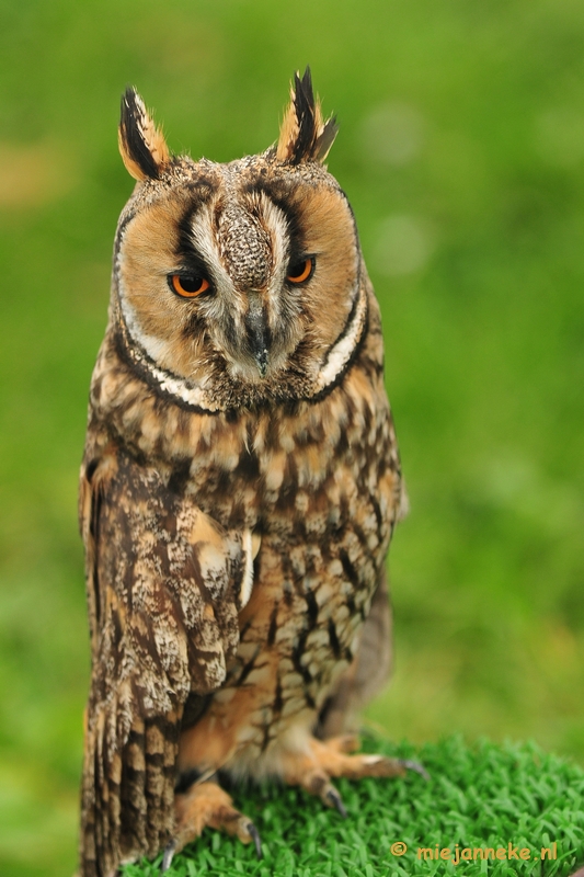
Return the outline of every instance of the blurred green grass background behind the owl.
{"type": "Polygon", "coordinates": [[[77,471],[131,190],[136,84],[175,151],[277,136],[309,62],[383,311],[412,503],[394,739],[584,759],[584,4],[0,3],[0,873],[72,873],[89,651],[77,471]]]}

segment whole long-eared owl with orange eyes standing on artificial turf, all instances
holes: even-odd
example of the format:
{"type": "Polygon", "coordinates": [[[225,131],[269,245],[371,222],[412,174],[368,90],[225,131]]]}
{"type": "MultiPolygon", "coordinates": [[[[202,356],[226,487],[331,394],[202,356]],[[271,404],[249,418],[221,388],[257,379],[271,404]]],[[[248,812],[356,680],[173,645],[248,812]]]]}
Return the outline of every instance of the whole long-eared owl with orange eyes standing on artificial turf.
{"type": "Polygon", "coordinates": [[[204,828],[261,853],[221,788],[278,778],[344,813],[334,777],[389,667],[385,560],[404,508],[379,308],[323,161],[310,71],[277,145],[174,156],[138,94],[119,149],[108,323],[81,467],[92,675],[82,877],[204,828]]]}

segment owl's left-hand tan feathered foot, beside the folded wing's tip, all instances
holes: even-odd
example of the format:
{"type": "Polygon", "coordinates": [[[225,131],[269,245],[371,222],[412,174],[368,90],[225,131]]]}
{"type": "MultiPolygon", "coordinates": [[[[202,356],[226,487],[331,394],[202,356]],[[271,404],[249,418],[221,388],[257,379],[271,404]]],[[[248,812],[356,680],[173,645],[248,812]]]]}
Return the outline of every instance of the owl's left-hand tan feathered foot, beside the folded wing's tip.
{"type": "Polygon", "coordinates": [[[251,819],[232,806],[231,797],[217,783],[195,783],[185,793],[174,797],[176,829],[174,838],[164,851],[162,870],[170,868],[175,853],[196,840],[203,829],[217,829],[239,838],[243,843],[255,844],[257,857],[262,857],[260,833],[251,819]]]}

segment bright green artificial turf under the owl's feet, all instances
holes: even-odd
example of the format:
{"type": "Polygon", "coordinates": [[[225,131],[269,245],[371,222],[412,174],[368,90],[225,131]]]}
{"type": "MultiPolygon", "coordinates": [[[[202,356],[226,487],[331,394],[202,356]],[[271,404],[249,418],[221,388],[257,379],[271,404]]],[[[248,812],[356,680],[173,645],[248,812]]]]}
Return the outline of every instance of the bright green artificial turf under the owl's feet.
{"type": "MultiPolygon", "coordinates": [[[[431,779],[409,773],[404,779],[340,781],[346,820],[294,788],[236,790],[237,806],[261,831],[263,859],[251,846],[206,830],[175,857],[169,877],[566,877],[582,858],[584,772],[577,765],[533,743],[468,747],[460,737],[421,749],[379,742],[366,749],[417,759],[431,779]],[[397,855],[396,844],[406,851],[397,855]],[[455,857],[457,844],[472,855],[484,850],[488,858],[478,853],[455,865],[433,857],[436,845],[455,857]],[[542,848],[549,850],[543,861],[542,848]],[[505,859],[493,858],[497,850],[505,859]],[[522,850],[529,859],[513,857],[522,850]]],[[[123,874],[154,877],[159,865],[160,858],[128,865],[123,874]]]]}

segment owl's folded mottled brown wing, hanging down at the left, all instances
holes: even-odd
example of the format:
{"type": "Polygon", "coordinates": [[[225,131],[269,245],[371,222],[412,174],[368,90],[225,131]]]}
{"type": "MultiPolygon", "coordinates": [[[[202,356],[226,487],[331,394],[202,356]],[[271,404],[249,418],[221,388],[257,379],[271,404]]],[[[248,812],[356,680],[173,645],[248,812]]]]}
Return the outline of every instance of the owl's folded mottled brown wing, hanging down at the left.
{"type": "Polygon", "coordinates": [[[92,637],[81,874],[156,855],[173,828],[183,706],[225,680],[249,596],[249,532],[226,532],[153,468],[111,447],[83,466],[92,637]]]}

